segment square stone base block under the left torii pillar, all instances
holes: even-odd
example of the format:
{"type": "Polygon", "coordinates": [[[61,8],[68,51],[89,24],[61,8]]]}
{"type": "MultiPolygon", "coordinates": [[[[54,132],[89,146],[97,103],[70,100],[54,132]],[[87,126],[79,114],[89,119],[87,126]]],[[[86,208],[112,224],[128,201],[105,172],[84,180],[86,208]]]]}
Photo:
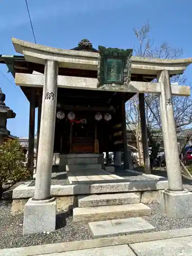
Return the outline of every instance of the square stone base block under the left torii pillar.
{"type": "Polygon", "coordinates": [[[42,233],[55,231],[56,200],[34,200],[30,198],[25,205],[23,233],[42,233]]]}

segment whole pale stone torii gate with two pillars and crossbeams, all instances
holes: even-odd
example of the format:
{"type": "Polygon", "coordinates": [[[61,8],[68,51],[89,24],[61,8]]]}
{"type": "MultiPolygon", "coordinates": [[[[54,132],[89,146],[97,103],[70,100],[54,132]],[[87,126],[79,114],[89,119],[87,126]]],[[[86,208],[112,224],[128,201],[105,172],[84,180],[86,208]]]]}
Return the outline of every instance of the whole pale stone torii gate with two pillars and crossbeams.
{"type": "MultiPolygon", "coordinates": [[[[16,52],[24,54],[27,61],[45,65],[44,75],[15,74],[15,83],[20,87],[43,87],[35,195],[25,206],[24,232],[27,232],[27,229],[32,226],[34,232],[53,231],[55,229],[56,201],[54,198],[51,198],[50,187],[57,87],[84,90],[110,90],[114,92],[117,92],[118,89],[98,89],[96,78],[58,75],[58,68],[96,71],[98,68],[98,53],[56,49],[15,38],[12,38],[12,42],[16,52]],[[44,215],[41,215],[41,210],[43,210],[44,215]]],[[[154,75],[158,78],[158,82],[130,81],[129,87],[121,90],[121,92],[139,93],[146,167],[150,163],[143,93],[156,93],[160,96],[160,111],[168,177],[168,188],[161,191],[161,209],[170,217],[191,217],[192,193],[184,190],[182,185],[172,103],[172,95],[189,96],[190,89],[187,86],[171,86],[169,76],[182,74],[192,62],[192,58],[164,60],[131,57],[131,61],[131,71],[137,74],[138,77],[140,74],[144,74],[145,77],[154,75]]]]}

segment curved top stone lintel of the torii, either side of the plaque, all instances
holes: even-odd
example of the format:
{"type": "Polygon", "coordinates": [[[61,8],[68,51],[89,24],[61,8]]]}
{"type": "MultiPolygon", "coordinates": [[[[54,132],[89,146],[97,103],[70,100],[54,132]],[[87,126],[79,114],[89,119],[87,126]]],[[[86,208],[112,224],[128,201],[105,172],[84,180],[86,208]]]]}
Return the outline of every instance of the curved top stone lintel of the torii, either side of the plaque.
{"type": "MultiPolygon", "coordinates": [[[[59,62],[59,67],[85,70],[97,70],[99,53],[64,50],[32,42],[12,38],[17,53],[25,55],[25,59],[45,65],[46,60],[59,62]]],[[[157,74],[161,70],[169,70],[170,75],[182,74],[192,63],[192,58],[183,59],[156,59],[132,56],[131,70],[135,74],[157,74]]]]}

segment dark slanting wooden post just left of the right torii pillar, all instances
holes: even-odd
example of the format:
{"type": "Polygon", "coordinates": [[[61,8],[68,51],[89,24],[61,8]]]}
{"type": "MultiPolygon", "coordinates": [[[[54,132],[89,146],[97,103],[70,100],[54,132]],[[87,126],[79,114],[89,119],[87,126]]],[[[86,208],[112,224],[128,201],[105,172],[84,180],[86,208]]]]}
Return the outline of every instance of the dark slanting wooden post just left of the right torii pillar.
{"type": "Polygon", "coordinates": [[[151,174],[150,154],[148,153],[148,137],[147,137],[147,126],[146,126],[146,117],[145,117],[144,93],[139,93],[139,112],[140,112],[140,121],[141,121],[141,134],[142,134],[145,174],[151,174]]]}

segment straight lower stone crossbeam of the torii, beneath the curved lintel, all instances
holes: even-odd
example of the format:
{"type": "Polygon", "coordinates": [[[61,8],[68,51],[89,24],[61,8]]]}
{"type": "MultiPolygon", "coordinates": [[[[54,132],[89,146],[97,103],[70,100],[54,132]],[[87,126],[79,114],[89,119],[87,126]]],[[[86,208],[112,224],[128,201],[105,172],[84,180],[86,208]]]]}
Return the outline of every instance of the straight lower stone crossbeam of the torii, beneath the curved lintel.
{"type": "MultiPolygon", "coordinates": [[[[36,74],[15,74],[15,83],[17,86],[43,87],[44,75],[36,74]]],[[[161,83],[159,82],[139,82],[131,81],[125,88],[97,88],[97,79],[88,77],[58,76],[57,85],[59,88],[83,89],[95,91],[114,91],[124,93],[157,93],[161,92],[161,83]]],[[[172,85],[172,94],[175,96],[189,96],[190,87],[172,85]]]]}

